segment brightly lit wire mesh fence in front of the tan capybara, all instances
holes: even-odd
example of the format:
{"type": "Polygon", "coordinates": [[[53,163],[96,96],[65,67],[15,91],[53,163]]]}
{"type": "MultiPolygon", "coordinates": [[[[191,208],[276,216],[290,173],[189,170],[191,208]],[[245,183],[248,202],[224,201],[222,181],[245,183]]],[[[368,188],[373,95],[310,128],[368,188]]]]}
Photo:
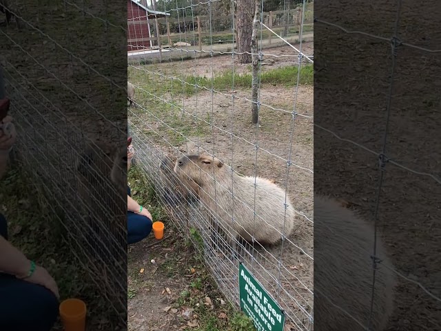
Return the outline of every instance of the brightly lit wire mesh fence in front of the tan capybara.
{"type": "Polygon", "coordinates": [[[127,70],[136,92],[128,122],[136,165],[201,249],[226,297],[239,303],[240,261],[280,304],[292,330],[312,330],[314,57],[312,43],[303,42],[312,3],[288,2],[259,3],[253,54],[241,48],[236,28],[243,15],[251,32],[253,1],[141,1],[144,16],[156,11],[156,19],[149,18],[149,29],[132,30],[141,23],[132,24],[139,4],[130,1],[127,70]],[[285,17],[285,35],[284,26],[268,23],[270,11],[285,17]],[[159,45],[145,46],[155,29],[159,45]],[[221,31],[227,32],[218,37],[221,31]],[[257,99],[244,54],[258,55],[257,99]],[[251,124],[253,105],[258,125],[251,124]]]}

